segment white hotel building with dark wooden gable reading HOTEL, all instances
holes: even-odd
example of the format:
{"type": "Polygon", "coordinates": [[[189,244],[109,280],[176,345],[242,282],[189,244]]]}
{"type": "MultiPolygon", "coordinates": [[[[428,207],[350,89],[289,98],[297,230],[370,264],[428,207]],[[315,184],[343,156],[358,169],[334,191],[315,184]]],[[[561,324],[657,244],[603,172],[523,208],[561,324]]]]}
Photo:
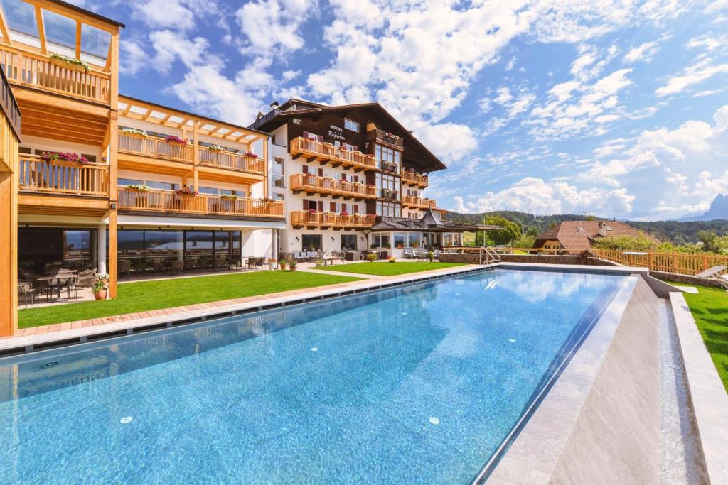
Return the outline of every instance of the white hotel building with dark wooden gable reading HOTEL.
{"type": "Polygon", "coordinates": [[[379,103],[292,99],[271,108],[250,127],[272,135],[269,192],[288,217],[282,253],[378,247],[400,256],[457,243],[456,233],[427,231],[438,223],[425,216],[441,211],[423,192],[445,165],[379,103]]]}

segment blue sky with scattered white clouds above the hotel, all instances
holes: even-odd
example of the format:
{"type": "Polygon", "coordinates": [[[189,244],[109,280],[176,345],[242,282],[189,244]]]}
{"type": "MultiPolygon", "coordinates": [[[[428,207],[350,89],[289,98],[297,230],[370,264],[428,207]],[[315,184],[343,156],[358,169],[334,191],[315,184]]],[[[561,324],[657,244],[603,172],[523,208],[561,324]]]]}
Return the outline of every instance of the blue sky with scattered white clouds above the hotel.
{"type": "Polygon", "coordinates": [[[728,0],[76,0],[127,24],[123,94],[249,124],[378,101],[461,212],[657,220],[728,193],[728,0]]]}

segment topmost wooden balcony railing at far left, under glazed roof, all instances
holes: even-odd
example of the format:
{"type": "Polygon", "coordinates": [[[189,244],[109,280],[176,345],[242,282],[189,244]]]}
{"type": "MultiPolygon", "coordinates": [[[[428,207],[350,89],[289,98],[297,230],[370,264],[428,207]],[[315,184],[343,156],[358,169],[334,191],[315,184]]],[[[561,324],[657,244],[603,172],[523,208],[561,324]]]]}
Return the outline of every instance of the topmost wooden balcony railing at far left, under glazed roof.
{"type": "Polygon", "coordinates": [[[37,87],[62,95],[108,105],[111,79],[108,73],[76,71],[50,57],[0,47],[0,66],[11,83],[37,87]]]}

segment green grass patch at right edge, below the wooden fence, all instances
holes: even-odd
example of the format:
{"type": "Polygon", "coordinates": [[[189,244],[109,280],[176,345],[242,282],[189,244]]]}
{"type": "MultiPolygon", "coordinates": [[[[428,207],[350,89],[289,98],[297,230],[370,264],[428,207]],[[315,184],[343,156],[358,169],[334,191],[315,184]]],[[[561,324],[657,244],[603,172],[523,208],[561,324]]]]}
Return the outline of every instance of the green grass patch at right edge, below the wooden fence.
{"type": "MultiPolygon", "coordinates": [[[[695,286],[673,283],[679,286],[695,286]]],[[[705,347],[716,364],[718,374],[728,391],[728,292],[719,288],[695,286],[699,293],[684,293],[705,347]]]]}

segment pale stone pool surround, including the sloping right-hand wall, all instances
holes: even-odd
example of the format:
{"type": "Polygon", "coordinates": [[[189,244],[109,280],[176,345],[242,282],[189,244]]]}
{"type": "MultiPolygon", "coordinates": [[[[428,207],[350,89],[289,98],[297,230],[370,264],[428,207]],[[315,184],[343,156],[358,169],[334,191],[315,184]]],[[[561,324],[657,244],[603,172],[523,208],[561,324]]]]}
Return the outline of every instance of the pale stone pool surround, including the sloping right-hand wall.
{"type": "MultiPolygon", "coordinates": [[[[679,289],[652,281],[654,278],[649,276],[645,268],[501,262],[390,277],[371,277],[357,273],[352,276],[362,278],[361,281],[100,318],[98,321],[36,327],[34,332],[0,339],[0,354],[12,355],[58,345],[73,345],[122,334],[282,308],[313,300],[424,283],[457,274],[478,273],[486,268],[631,275],[630,284],[625,285],[625,288],[629,288],[622,289],[622,300],[615,298],[610,303],[594,327],[593,334],[587,337],[582,348],[579,348],[565,366],[561,377],[555,381],[542,404],[523,426],[502,460],[491,469],[493,474],[489,481],[579,482],[587,479],[590,468],[604,468],[609,473],[600,474],[601,480],[594,483],[610,483],[612,478],[631,483],[630,473],[633,473],[632,476],[644,478],[642,483],[659,482],[660,444],[655,444],[654,441],[655,419],[659,428],[659,409],[657,418],[654,414],[654,366],[655,358],[659,356],[654,350],[655,345],[659,348],[659,342],[656,333],[648,327],[653,318],[657,318],[657,305],[654,302],[657,301],[656,294],[661,294],[662,301],[666,299],[672,302],[671,308],[675,313],[681,352],[689,379],[689,401],[695,407],[695,420],[700,429],[700,451],[705,455],[705,468],[712,483],[728,483],[725,479],[728,477],[725,461],[728,457],[728,418],[725,413],[725,409],[728,409],[728,395],[722,388],[716,369],[697,332],[695,321],[692,320],[687,306],[684,306],[684,300],[681,300],[679,289]],[[628,302],[624,301],[625,297],[628,302]],[[631,323],[624,324],[622,320],[625,319],[631,323]],[[638,385],[625,385],[624,380],[633,374],[640,374],[641,381],[638,385]],[[642,391],[644,395],[639,396],[642,391]],[[604,403],[611,405],[612,409],[608,406],[605,408],[604,403]],[[619,412],[615,414],[614,409],[619,412]],[[620,413],[629,418],[629,425],[624,429],[614,430],[617,425],[623,426],[620,413]],[[645,422],[648,423],[646,428],[637,429],[645,422]],[[630,433],[624,433],[625,429],[630,433]],[[625,443],[629,446],[622,446],[625,443]],[[641,449],[641,446],[645,448],[641,449]],[[590,449],[593,453],[589,454],[585,449],[590,449]],[[654,451],[657,451],[657,458],[651,453],[654,451]],[[585,468],[587,475],[584,474],[585,468]]],[[[659,390],[659,371],[657,374],[659,390]]],[[[658,392],[657,404],[659,401],[658,392]]],[[[659,441],[659,436],[657,440],[659,441]]]]}

